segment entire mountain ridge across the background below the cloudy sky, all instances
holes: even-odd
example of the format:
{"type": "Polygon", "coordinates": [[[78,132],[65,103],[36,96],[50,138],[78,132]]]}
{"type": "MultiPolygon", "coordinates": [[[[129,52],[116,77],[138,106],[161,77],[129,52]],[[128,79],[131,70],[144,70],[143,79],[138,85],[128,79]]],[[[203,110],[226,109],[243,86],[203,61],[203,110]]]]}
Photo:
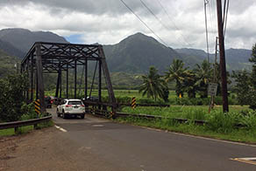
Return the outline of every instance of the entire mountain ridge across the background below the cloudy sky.
{"type": "MultiPolygon", "coordinates": [[[[0,50],[10,56],[22,58],[37,41],[68,43],[59,35],[50,31],[29,31],[26,29],[4,29],[0,31],[0,50]]],[[[192,48],[173,49],[160,44],[155,38],[141,32],[124,38],[117,44],[103,44],[110,72],[146,73],[154,65],[161,73],[167,70],[174,58],[183,60],[186,66],[195,67],[207,58],[203,50],[192,48]]],[[[226,50],[227,70],[251,69],[248,62],[252,50],[226,50]]],[[[1,57],[0,57],[1,58],[1,57]]],[[[214,54],[210,54],[213,62],[214,54]]]]}

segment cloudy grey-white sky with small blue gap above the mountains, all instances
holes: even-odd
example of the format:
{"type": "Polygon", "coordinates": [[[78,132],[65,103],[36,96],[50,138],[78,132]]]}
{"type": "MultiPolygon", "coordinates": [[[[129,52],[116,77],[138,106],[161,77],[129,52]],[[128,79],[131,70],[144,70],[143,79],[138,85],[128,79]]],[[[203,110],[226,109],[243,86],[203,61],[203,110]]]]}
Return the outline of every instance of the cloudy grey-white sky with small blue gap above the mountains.
{"type": "MultiPolygon", "coordinates": [[[[0,29],[53,31],[71,43],[82,44],[117,44],[142,32],[173,48],[206,50],[203,5],[203,0],[0,0],[0,29]]],[[[209,0],[207,17],[213,52],[216,0],[209,0]]],[[[255,0],[231,0],[225,47],[251,49],[256,43],[255,18],[255,0]]]]}

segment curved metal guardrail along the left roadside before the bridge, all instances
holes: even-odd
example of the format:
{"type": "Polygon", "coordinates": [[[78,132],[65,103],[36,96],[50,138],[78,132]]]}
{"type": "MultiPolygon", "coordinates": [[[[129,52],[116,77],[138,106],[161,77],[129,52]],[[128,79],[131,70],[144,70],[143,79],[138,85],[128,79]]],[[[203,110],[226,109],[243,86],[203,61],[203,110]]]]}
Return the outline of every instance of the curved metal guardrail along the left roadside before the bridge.
{"type": "Polygon", "coordinates": [[[1,129],[14,128],[15,133],[18,133],[18,127],[32,126],[33,125],[34,129],[36,129],[38,127],[39,123],[49,121],[49,120],[52,120],[52,115],[46,116],[46,117],[43,117],[43,118],[39,118],[39,119],[0,123],[0,130],[1,129]]]}

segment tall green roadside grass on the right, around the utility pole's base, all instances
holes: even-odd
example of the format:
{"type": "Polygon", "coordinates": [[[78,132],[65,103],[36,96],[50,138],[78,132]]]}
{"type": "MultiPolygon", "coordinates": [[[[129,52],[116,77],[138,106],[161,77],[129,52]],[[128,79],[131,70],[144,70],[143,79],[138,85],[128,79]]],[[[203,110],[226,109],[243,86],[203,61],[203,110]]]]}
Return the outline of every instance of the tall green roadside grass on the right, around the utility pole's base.
{"type": "Polygon", "coordinates": [[[136,117],[117,119],[124,123],[221,140],[256,143],[256,112],[249,110],[248,106],[230,106],[230,113],[225,114],[222,113],[222,106],[215,107],[211,113],[208,113],[208,106],[139,106],[134,110],[131,107],[124,107],[122,112],[167,117],[162,120],[146,120],[136,117]],[[188,122],[180,124],[173,118],[188,119],[188,122]],[[193,120],[206,120],[207,124],[198,126],[193,120]],[[238,124],[244,127],[237,127],[238,124]]]}

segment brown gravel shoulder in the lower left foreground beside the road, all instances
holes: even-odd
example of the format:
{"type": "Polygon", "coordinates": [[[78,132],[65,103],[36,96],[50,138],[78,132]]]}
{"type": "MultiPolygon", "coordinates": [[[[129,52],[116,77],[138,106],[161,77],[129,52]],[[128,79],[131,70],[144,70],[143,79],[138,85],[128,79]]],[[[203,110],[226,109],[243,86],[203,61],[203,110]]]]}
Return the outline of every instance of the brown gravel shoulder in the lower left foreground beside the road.
{"type": "Polygon", "coordinates": [[[0,171],[121,170],[68,140],[55,127],[0,138],[0,171]]]}

